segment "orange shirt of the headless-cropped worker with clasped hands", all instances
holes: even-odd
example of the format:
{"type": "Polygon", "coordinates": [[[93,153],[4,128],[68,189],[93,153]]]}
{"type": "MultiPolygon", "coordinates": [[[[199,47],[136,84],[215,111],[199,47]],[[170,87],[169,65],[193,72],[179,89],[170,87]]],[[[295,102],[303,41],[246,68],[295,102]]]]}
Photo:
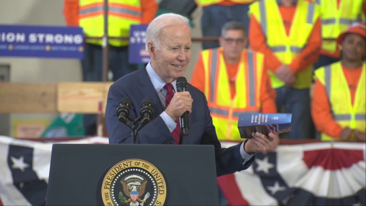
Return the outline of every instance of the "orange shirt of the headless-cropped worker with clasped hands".
{"type": "MultiPolygon", "coordinates": [[[[312,2],[311,0],[308,0],[312,2]]],[[[279,5],[280,14],[283,19],[287,36],[290,34],[292,19],[296,11],[296,4],[292,6],[279,5]]],[[[261,25],[255,19],[254,15],[250,15],[249,23],[249,44],[254,51],[259,51],[266,56],[268,69],[276,72],[277,68],[282,65],[282,62],[273,54],[272,50],[267,45],[267,38],[262,32],[261,25]]],[[[318,60],[321,49],[321,21],[318,18],[315,22],[313,30],[307,40],[305,48],[296,56],[290,63],[289,67],[292,73],[305,69],[310,64],[318,60]]]]}

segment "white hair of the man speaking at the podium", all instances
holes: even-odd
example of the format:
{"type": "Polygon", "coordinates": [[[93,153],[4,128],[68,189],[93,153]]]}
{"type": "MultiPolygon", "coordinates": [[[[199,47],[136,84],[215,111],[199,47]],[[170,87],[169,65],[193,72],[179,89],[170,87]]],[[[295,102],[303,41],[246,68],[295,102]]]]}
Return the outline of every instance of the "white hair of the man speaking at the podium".
{"type": "Polygon", "coordinates": [[[160,32],[165,26],[172,26],[172,25],[188,25],[189,26],[189,19],[173,13],[161,14],[153,19],[150,22],[149,26],[146,29],[146,43],[145,48],[146,51],[149,51],[149,41],[153,42],[154,47],[159,47],[159,38],[160,32]]]}

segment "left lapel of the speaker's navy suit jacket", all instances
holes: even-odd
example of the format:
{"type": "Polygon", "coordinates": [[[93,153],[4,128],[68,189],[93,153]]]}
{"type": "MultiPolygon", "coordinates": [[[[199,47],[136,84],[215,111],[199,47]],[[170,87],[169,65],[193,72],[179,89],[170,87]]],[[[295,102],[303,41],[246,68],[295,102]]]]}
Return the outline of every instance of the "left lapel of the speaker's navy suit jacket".
{"type": "Polygon", "coordinates": [[[151,100],[153,100],[154,103],[153,118],[155,118],[164,111],[163,105],[161,105],[159,96],[154,89],[153,83],[151,82],[149,76],[147,75],[145,67],[139,70],[139,75],[140,75],[140,85],[139,85],[140,92],[143,98],[150,98],[151,100]]]}

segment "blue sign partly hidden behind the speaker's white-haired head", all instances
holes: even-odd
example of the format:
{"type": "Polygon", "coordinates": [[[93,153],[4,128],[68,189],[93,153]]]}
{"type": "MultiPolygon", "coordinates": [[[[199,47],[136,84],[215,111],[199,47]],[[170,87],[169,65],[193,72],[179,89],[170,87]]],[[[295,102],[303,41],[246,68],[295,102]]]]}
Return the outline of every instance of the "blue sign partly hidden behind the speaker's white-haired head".
{"type": "Polygon", "coordinates": [[[145,49],[146,24],[131,25],[130,43],[128,45],[128,63],[145,64],[150,61],[150,54],[145,49]]]}

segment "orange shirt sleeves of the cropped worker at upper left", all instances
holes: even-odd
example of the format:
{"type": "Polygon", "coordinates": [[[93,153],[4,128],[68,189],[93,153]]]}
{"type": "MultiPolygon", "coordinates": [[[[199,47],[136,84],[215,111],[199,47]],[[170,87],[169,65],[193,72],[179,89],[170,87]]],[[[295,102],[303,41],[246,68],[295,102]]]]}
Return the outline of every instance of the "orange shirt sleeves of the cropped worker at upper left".
{"type": "MultiPolygon", "coordinates": [[[[141,23],[150,23],[156,15],[158,4],[152,0],[141,0],[141,23]]],[[[63,9],[67,26],[79,26],[79,0],[64,0],[63,9]]]]}

